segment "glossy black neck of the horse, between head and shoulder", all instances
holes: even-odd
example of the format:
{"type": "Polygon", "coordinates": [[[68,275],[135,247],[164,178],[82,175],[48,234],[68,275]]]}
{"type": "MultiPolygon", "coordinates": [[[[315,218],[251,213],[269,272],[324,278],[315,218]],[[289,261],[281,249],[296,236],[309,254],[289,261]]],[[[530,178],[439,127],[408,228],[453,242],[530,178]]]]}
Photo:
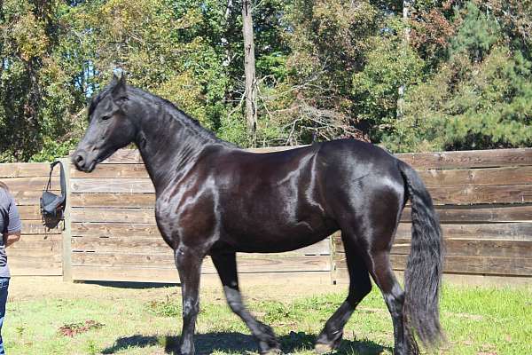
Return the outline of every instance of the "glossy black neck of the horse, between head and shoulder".
{"type": "Polygon", "coordinates": [[[187,120],[190,119],[167,108],[140,119],[135,143],[158,194],[192,169],[205,146],[223,145],[199,125],[187,120]]]}

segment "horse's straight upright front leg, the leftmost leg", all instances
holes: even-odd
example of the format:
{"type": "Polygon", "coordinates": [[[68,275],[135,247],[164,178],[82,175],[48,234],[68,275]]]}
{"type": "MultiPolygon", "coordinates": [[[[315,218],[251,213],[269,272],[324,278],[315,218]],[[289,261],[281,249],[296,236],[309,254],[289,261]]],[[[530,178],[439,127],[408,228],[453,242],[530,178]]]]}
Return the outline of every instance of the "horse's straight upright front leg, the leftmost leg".
{"type": "Polygon", "coordinates": [[[180,246],[176,248],[174,258],[183,298],[183,330],[179,350],[182,355],[193,355],[194,329],[200,311],[200,272],[203,255],[192,248],[180,246]]]}

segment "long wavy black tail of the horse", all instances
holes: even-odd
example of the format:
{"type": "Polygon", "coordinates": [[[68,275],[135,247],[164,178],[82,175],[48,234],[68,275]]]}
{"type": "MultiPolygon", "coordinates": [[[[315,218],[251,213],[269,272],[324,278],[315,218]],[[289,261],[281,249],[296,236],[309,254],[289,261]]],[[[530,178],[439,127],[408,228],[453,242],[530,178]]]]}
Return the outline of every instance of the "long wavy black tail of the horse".
{"type": "Polygon", "coordinates": [[[430,194],[418,173],[399,161],[408,186],[412,210],[411,254],[404,272],[405,326],[412,327],[426,347],[443,340],[440,326],[440,286],[443,269],[443,239],[430,194]]]}

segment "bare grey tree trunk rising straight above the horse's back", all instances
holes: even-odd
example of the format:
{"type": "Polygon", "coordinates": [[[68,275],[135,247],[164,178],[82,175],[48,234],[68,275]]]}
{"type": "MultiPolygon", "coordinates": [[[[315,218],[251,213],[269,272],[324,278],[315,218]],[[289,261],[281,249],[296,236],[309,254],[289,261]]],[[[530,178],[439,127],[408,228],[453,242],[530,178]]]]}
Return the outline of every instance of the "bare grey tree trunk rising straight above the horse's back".
{"type": "Polygon", "coordinates": [[[246,72],[246,122],[247,131],[256,145],[257,128],[257,82],[255,78],[253,19],[251,0],[242,0],[242,23],[244,33],[244,70],[246,72]]]}

